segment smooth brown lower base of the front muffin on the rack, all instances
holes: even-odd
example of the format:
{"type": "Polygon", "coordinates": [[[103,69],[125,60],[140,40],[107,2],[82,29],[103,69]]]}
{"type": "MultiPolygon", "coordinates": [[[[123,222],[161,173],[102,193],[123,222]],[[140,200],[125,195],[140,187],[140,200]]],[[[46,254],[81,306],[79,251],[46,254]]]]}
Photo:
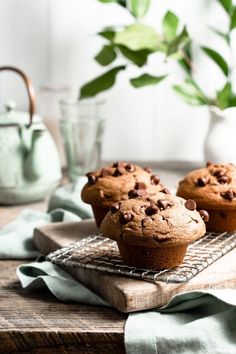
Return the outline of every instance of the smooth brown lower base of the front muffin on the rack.
{"type": "Polygon", "coordinates": [[[187,245],[172,247],[143,247],[117,242],[124,263],[137,268],[160,270],[173,268],[183,262],[187,245]]]}

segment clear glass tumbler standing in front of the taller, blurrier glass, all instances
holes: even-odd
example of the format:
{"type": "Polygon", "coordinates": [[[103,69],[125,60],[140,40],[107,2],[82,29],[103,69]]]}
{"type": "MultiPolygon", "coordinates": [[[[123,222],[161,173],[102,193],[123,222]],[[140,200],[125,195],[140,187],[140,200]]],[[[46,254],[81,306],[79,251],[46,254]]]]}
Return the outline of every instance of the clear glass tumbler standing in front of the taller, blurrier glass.
{"type": "Polygon", "coordinates": [[[60,129],[71,181],[100,167],[105,127],[103,106],[104,101],[93,99],[60,100],[60,129]]]}

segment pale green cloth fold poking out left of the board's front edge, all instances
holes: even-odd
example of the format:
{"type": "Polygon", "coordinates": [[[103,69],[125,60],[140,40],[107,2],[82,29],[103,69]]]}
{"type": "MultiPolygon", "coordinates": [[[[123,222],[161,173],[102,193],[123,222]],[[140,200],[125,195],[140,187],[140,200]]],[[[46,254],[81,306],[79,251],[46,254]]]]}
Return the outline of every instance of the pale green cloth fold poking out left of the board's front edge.
{"type": "Polygon", "coordinates": [[[17,268],[16,273],[23,288],[31,290],[48,288],[61,301],[109,306],[102,298],[51,262],[23,264],[17,268]]]}

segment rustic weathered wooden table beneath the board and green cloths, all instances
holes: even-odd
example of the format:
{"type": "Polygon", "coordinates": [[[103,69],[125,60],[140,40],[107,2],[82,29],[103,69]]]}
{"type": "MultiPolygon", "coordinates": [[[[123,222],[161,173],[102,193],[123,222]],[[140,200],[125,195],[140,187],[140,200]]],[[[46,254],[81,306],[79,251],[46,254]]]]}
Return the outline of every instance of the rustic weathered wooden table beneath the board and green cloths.
{"type": "MultiPolygon", "coordinates": [[[[176,185],[179,173],[160,173],[176,185]],[[173,178],[174,176],[174,178],[173,178]]],[[[46,202],[24,206],[46,211],[46,202]]],[[[0,207],[0,227],[24,208],[0,207]]],[[[16,267],[0,261],[0,353],[125,353],[127,315],[105,307],[61,303],[48,291],[26,291],[16,267]]]]}

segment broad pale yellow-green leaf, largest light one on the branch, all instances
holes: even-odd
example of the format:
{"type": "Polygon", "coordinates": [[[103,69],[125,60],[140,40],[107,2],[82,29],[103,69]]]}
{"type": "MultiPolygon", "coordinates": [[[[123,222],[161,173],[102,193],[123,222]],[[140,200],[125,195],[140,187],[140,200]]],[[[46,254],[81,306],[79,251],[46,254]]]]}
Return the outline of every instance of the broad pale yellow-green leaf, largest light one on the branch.
{"type": "Polygon", "coordinates": [[[152,27],[135,23],[117,32],[114,43],[134,51],[148,49],[154,52],[159,48],[160,38],[152,27]]]}

